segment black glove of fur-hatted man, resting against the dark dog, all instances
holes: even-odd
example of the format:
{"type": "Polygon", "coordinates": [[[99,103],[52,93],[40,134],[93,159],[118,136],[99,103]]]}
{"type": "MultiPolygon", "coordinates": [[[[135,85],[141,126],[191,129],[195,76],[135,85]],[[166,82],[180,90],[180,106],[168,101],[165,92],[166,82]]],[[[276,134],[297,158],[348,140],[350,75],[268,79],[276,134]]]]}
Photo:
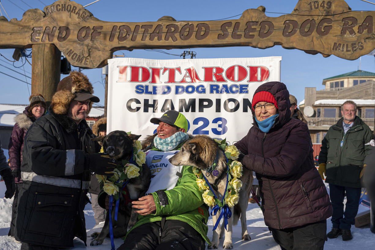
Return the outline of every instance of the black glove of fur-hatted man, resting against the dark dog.
{"type": "Polygon", "coordinates": [[[110,173],[117,166],[118,161],[103,153],[86,154],[85,169],[89,169],[98,175],[112,175],[110,173]]]}

